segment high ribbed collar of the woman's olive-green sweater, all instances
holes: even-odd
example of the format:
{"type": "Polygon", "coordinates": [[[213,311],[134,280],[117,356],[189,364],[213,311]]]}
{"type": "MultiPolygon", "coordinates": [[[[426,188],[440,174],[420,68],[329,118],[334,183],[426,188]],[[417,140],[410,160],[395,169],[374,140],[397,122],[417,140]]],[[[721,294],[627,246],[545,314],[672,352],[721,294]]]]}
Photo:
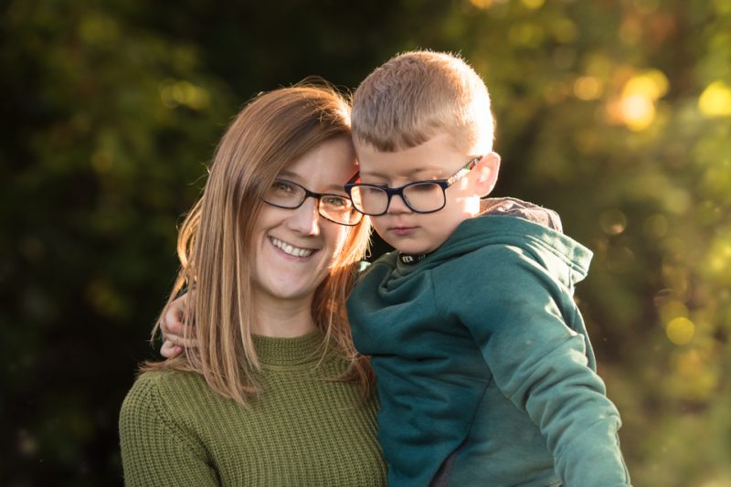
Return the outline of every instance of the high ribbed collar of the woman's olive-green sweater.
{"type": "Polygon", "coordinates": [[[262,364],[301,365],[317,362],[323,356],[324,333],[315,330],[294,338],[251,335],[262,364]]]}

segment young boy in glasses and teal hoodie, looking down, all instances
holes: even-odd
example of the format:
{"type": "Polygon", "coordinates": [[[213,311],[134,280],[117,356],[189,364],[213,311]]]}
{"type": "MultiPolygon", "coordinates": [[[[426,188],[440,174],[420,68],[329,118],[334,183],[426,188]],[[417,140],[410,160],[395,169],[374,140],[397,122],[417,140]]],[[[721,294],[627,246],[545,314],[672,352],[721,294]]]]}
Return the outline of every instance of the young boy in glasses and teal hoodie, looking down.
{"type": "Polygon", "coordinates": [[[360,182],[346,190],[397,249],[348,300],[389,485],[629,485],[573,301],[591,252],[543,208],[481,210],[500,165],[482,79],[409,52],[364,80],[352,121],[360,182]]]}

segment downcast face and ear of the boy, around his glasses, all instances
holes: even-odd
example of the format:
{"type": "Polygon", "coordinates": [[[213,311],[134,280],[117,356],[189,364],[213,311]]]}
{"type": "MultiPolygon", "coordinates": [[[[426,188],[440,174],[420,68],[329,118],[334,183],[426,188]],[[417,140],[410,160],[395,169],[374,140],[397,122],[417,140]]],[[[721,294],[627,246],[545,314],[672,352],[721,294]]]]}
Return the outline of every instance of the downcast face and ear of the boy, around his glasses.
{"type": "MultiPolygon", "coordinates": [[[[399,187],[416,181],[448,179],[471,159],[482,160],[444,191],[444,207],[433,213],[416,213],[400,196],[392,196],[387,212],[371,217],[373,227],[389,245],[409,255],[427,254],[439,248],[462,221],[480,211],[480,197],[487,195],[497,178],[497,154],[466,154],[454,148],[447,134],[430,138],[416,147],[382,153],[370,144],[355,143],[361,182],[399,187]]],[[[416,195],[415,195],[416,196],[416,195]]],[[[441,190],[436,197],[441,204],[441,190]]]]}

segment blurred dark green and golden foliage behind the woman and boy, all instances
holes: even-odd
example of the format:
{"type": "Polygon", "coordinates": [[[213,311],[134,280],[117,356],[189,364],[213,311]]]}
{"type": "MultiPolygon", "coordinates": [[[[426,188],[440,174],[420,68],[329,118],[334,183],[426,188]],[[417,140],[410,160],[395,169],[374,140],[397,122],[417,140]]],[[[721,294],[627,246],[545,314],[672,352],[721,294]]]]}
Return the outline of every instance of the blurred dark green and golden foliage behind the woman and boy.
{"type": "Polygon", "coordinates": [[[729,0],[6,2],[0,483],[122,483],[175,227],[240,106],[433,48],[492,92],[494,194],[595,251],[577,298],[635,484],[731,485],[729,25],[729,0]]]}

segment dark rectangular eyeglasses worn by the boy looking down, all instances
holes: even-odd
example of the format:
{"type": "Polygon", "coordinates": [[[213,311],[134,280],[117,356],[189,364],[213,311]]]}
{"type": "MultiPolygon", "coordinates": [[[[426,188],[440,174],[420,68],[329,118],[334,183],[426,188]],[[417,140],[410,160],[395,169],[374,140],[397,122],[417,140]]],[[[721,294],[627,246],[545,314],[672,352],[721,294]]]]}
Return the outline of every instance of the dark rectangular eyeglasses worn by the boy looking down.
{"type": "Polygon", "coordinates": [[[447,197],[444,194],[447,188],[467,175],[481,160],[482,155],[471,159],[447,179],[415,181],[399,187],[348,183],[345,185],[345,191],[350,195],[355,209],[371,217],[384,215],[393,196],[401,196],[406,206],[414,213],[434,213],[447,204],[447,197]]]}

